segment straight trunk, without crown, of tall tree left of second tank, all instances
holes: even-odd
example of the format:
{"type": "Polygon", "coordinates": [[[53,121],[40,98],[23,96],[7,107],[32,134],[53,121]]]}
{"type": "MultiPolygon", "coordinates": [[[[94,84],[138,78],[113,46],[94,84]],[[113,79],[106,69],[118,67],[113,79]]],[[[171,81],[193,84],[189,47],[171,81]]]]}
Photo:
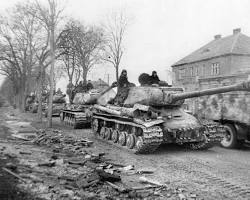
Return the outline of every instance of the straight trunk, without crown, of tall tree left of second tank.
{"type": "Polygon", "coordinates": [[[54,24],[51,26],[50,35],[50,51],[51,51],[51,67],[50,67],[50,93],[48,106],[48,127],[52,127],[52,108],[53,108],[53,92],[54,92],[54,65],[55,65],[55,33],[54,24]]]}

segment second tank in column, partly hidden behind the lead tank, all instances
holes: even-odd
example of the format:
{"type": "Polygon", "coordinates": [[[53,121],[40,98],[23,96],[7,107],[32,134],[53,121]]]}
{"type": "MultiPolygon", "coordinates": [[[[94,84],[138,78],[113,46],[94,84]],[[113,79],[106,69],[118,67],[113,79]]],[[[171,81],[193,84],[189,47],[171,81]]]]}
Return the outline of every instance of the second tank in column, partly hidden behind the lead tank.
{"type": "Polygon", "coordinates": [[[76,93],[73,104],[66,105],[61,109],[61,122],[74,129],[90,125],[92,105],[97,103],[98,99],[99,101],[108,101],[110,97],[114,97],[115,93],[111,92],[112,88],[113,86],[108,87],[102,92],[92,89],[88,92],[76,93]]]}

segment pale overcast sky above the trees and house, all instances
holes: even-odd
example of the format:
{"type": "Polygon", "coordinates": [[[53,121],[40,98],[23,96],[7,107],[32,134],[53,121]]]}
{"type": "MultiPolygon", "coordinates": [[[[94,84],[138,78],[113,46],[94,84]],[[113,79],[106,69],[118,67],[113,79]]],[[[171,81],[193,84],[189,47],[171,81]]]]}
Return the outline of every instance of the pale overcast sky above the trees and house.
{"type": "MultiPolygon", "coordinates": [[[[0,11],[17,0],[0,1],[0,11]]],[[[125,9],[132,17],[127,30],[121,68],[129,80],[137,81],[142,72],[166,70],[179,59],[213,40],[214,35],[231,35],[234,28],[250,36],[249,0],[63,0],[65,14],[87,24],[99,24],[115,10],[125,9]],[[65,3],[66,2],[66,3],[65,3]]],[[[104,78],[114,71],[110,66],[89,78],[104,78]]]]}

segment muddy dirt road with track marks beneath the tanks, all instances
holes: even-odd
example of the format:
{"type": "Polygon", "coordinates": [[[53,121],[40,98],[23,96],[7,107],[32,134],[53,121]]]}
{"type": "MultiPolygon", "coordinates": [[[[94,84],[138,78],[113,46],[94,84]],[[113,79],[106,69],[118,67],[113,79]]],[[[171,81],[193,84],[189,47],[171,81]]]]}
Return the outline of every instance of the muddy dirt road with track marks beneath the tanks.
{"type": "MultiPolygon", "coordinates": [[[[55,123],[59,124],[58,119],[55,123]]],[[[70,132],[91,138],[95,141],[94,150],[108,152],[116,162],[132,164],[139,169],[153,169],[154,174],[148,177],[197,194],[200,198],[250,199],[250,148],[247,146],[235,150],[216,146],[208,151],[190,151],[162,145],[151,155],[135,155],[96,139],[91,130],[70,132]]]]}

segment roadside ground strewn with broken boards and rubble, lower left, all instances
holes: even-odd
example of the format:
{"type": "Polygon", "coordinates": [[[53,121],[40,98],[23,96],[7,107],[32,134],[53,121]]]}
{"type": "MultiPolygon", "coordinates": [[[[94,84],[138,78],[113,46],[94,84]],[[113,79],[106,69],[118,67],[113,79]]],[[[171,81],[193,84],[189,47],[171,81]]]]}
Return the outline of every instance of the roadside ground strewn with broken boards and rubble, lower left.
{"type": "Polygon", "coordinates": [[[12,140],[22,143],[13,143],[15,153],[5,147],[0,147],[0,151],[19,163],[6,163],[2,169],[19,180],[23,191],[40,199],[197,199],[195,194],[187,195],[146,177],[154,173],[152,169],[108,160],[108,152],[93,153],[89,150],[93,141],[88,138],[77,138],[57,129],[21,133],[19,129],[30,126],[29,123],[9,124],[16,131],[12,140]],[[145,176],[140,177],[142,174],[145,176]],[[135,177],[135,183],[128,184],[127,177],[135,177]]]}

